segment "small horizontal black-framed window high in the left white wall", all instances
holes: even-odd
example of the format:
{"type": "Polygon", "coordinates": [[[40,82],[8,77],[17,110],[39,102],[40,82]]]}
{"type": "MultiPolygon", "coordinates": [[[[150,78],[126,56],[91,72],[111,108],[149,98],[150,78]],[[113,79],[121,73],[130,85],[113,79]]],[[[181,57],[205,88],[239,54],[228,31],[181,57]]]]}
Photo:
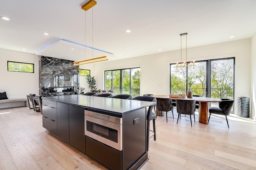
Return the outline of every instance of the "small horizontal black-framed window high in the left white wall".
{"type": "Polygon", "coordinates": [[[35,72],[34,64],[16,61],[7,61],[7,70],[15,72],[35,72]]]}

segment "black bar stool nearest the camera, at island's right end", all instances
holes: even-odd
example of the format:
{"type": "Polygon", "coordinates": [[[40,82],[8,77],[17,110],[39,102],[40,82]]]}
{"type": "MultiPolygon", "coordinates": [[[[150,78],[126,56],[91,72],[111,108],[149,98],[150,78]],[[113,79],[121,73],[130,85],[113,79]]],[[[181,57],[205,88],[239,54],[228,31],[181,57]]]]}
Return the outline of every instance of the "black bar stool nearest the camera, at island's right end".
{"type": "MultiPolygon", "coordinates": [[[[141,101],[147,101],[147,102],[156,102],[156,98],[152,96],[137,96],[135,98],[132,98],[131,100],[141,100],[141,101]]],[[[153,120],[153,133],[154,133],[154,141],[156,141],[156,113],[152,112],[153,107],[156,105],[152,105],[148,107],[147,112],[147,151],[149,146],[149,139],[152,137],[149,137],[149,131],[150,131],[150,121],[153,120]]]]}

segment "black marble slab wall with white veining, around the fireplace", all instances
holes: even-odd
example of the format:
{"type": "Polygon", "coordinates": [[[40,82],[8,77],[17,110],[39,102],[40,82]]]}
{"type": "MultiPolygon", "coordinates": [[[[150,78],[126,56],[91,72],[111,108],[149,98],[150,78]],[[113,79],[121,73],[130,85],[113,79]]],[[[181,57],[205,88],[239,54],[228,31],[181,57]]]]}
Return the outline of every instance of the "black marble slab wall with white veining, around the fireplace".
{"type": "Polygon", "coordinates": [[[48,88],[56,86],[54,84],[55,76],[64,76],[63,87],[74,86],[73,74],[79,74],[79,66],[74,66],[73,61],[40,56],[39,73],[40,72],[40,94],[46,96],[48,88]]]}

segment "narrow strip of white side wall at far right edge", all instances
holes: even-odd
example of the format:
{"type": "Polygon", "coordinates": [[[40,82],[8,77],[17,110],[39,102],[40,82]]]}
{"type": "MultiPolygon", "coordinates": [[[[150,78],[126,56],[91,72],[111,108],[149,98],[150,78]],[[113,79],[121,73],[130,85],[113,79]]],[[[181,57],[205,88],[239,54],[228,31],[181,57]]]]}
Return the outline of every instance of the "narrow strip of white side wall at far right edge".
{"type": "Polygon", "coordinates": [[[251,61],[251,115],[252,119],[256,120],[255,108],[256,108],[256,33],[252,37],[252,61],[251,61]]]}

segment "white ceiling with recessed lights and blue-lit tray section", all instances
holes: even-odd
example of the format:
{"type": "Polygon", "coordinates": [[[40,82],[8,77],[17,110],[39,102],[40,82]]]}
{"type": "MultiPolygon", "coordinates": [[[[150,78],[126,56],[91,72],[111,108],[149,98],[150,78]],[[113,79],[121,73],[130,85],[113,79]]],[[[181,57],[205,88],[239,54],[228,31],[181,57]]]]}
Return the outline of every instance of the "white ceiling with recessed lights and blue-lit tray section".
{"type": "Polygon", "coordinates": [[[96,0],[85,12],[86,2],[0,0],[0,16],[10,18],[0,19],[0,48],[72,61],[109,55],[111,61],[180,49],[181,33],[188,33],[189,48],[256,32],[256,0],[96,0]],[[98,49],[94,56],[84,44],[98,49]]]}

